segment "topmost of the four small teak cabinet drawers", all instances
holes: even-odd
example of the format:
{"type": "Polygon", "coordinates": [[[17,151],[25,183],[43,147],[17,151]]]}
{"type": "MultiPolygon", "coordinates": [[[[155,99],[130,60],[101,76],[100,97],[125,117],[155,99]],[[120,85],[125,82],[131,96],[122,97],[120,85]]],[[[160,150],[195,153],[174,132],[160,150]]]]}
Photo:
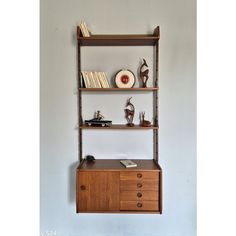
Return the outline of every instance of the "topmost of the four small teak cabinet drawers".
{"type": "Polygon", "coordinates": [[[120,180],[157,179],[157,171],[121,171],[120,180]]]}

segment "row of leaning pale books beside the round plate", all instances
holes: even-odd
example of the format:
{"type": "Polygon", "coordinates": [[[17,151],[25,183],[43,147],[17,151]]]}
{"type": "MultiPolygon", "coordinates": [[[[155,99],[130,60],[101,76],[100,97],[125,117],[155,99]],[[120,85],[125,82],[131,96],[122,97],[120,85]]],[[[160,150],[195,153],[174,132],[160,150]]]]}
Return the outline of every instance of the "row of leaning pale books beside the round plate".
{"type": "Polygon", "coordinates": [[[81,82],[84,88],[110,88],[105,72],[81,71],[81,82]]]}

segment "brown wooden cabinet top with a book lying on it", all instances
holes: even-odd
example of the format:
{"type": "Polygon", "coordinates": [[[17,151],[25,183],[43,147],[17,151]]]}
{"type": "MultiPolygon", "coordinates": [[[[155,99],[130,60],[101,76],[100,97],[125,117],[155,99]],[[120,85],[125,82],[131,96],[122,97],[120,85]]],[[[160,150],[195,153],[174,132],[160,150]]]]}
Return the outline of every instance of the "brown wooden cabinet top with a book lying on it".
{"type": "Polygon", "coordinates": [[[78,166],[79,171],[160,171],[160,166],[157,165],[152,159],[151,160],[138,160],[132,159],[137,164],[137,167],[126,168],[120,163],[121,159],[97,159],[94,162],[87,162],[85,160],[78,166]]]}

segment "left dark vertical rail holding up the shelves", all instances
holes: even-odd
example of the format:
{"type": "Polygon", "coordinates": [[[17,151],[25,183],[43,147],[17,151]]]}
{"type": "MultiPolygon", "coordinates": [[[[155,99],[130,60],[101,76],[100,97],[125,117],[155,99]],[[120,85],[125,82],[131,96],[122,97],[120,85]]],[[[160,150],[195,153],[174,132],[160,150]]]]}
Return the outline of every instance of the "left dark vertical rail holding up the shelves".
{"type": "Polygon", "coordinates": [[[82,104],[82,95],[81,95],[81,91],[79,90],[79,88],[82,87],[81,84],[81,55],[80,55],[80,42],[78,39],[78,132],[79,132],[79,160],[80,162],[83,159],[83,150],[82,150],[82,129],[80,128],[80,126],[82,125],[82,109],[81,109],[81,104],[82,104]]]}

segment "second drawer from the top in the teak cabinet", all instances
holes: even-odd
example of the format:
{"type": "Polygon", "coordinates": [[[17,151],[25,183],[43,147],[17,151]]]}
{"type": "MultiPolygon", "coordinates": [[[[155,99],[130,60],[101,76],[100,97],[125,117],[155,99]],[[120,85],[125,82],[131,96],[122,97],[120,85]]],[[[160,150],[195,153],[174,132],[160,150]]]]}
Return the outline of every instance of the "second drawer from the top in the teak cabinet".
{"type": "Polygon", "coordinates": [[[157,180],[120,180],[120,190],[158,190],[157,180]]]}

